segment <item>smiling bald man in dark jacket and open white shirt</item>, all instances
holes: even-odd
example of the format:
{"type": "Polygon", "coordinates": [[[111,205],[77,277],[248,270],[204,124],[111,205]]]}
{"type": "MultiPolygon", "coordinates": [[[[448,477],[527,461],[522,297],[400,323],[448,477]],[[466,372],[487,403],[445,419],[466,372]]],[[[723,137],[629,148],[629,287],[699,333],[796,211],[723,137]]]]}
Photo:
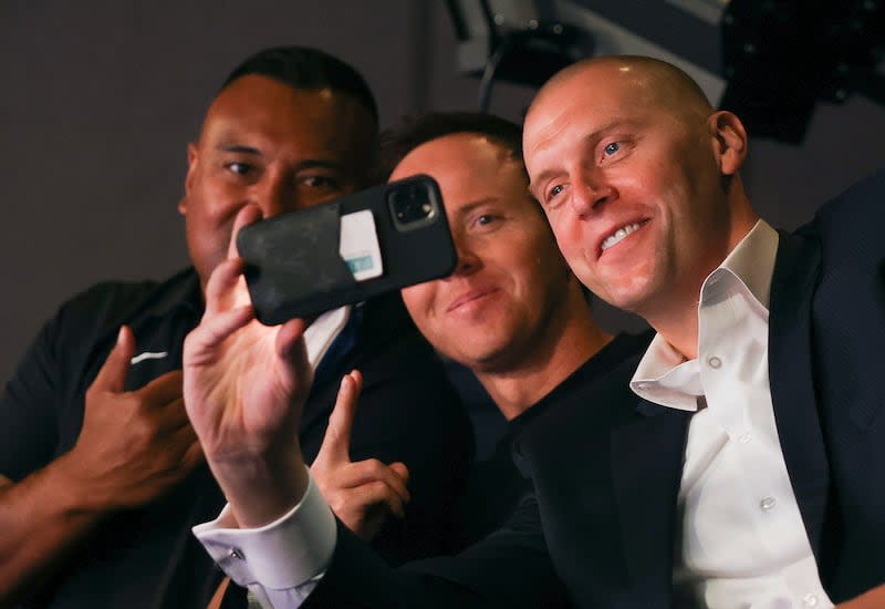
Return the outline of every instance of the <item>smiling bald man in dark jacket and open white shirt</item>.
{"type": "Polygon", "coordinates": [[[308,602],[534,607],[552,567],[584,607],[885,606],[885,176],[778,233],[740,120],[647,58],[554,76],[523,142],[572,270],[657,336],[521,436],[508,527],[420,577],[344,531],[308,602]]]}

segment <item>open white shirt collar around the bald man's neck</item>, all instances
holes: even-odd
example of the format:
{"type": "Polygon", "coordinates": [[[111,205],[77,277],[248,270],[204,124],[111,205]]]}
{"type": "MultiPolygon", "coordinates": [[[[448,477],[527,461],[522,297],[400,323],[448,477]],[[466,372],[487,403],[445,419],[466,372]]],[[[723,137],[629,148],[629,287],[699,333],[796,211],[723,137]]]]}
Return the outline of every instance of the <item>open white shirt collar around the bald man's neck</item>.
{"type": "MultiPolygon", "coordinates": [[[[741,283],[768,310],[777,254],[777,230],[764,220],[758,220],[722,264],[704,280],[699,307],[710,297],[710,292],[718,289],[716,283],[725,275],[741,283]]],[[[639,398],[686,411],[696,411],[696,396],[704,393],[697,360],[686,361],[660,334],[655,334],[648,345],[629,386],[639,398]]]]}

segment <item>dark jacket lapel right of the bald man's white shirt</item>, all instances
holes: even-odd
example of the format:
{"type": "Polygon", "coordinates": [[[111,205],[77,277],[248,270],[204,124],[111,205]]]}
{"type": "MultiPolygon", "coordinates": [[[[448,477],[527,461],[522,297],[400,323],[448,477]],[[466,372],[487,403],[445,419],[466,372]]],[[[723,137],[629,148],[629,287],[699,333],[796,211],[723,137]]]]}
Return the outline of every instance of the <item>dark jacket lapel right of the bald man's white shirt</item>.
{"type": "Polygon", "coordinates": [[[818,557],[829,487],[811,359],[811,301],[820,258],[814,240],[781,233],[769,318],[769,379],[778,436],[818,557]]]}

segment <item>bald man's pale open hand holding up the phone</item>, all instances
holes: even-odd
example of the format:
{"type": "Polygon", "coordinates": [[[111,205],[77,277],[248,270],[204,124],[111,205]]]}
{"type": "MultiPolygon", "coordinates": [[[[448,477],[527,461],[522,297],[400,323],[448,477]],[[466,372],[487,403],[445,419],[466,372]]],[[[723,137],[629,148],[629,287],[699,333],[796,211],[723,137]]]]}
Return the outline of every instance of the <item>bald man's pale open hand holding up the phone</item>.
{"type": "Polygon", "coordinates": [[[184,350],[187,413],[240,526],[284,514],[308,479],[298,438],[312,379],[305,324],[254,319],[236,254],[237,233],[259,215],[254,206],[238,214],[229,258],[207,282],[206,312],[184,350]]]}

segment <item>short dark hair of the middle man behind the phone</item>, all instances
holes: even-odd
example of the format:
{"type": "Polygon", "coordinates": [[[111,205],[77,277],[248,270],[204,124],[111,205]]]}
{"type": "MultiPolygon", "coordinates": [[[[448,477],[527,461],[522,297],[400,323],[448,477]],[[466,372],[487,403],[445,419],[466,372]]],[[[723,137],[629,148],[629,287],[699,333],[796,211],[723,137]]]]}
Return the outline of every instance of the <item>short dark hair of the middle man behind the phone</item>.
{"type": "Polygon", "coordinates": [[[486,136],[522,164],[522,127],[517,123],[483,112],[428,112],[406,117],[398,126],[382,133],[375,178],[386,180],[408,153],[421,144],[456,133],[486,136]]]}

